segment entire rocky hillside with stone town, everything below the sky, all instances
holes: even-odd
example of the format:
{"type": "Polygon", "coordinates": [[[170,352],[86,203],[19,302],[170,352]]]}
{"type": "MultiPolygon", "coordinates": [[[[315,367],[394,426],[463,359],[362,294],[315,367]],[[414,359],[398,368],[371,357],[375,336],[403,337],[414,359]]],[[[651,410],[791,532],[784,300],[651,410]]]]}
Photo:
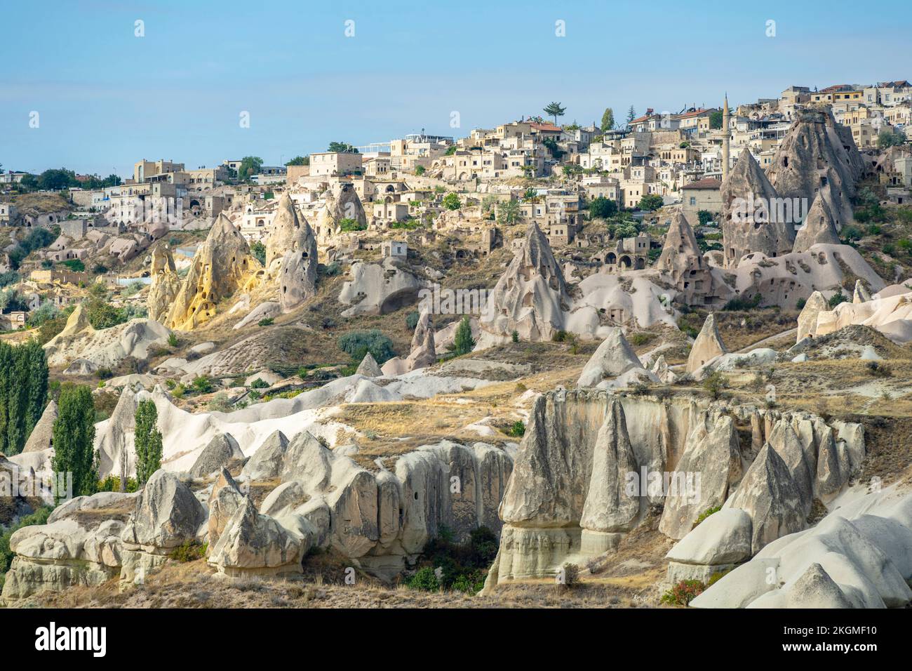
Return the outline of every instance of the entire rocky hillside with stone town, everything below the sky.
{"type": "Polygon", "coordinates": [[[909,607],[912,84],[820,83],[3,166],[0,601],[909,607]]]}

